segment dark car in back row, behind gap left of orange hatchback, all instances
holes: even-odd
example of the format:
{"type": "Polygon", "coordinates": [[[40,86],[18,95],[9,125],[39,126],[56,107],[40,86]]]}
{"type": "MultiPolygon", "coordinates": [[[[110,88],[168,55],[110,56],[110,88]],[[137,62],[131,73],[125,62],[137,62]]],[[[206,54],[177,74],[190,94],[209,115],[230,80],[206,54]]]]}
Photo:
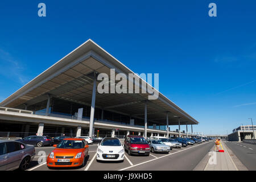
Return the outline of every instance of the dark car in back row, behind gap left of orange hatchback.
{"type": "Polygon", "coordinates": [[[32,146],[49,146],[53,144],[53,139],[47,136],[28,136],[23,139],[16,140],[18,142],[22,142],[24,144],[31,144],[32,146]]]}

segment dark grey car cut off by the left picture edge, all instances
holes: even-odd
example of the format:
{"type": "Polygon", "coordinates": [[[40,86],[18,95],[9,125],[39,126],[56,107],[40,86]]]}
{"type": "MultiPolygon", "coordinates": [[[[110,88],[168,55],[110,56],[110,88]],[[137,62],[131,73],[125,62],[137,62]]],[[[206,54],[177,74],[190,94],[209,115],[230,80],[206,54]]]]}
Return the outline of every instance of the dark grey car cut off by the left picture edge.
{"type": "Polygon", "coordinates": [[[34,146],[14,140],[0,140],[0,171],[26,170],[34,156],[34,146]]]}

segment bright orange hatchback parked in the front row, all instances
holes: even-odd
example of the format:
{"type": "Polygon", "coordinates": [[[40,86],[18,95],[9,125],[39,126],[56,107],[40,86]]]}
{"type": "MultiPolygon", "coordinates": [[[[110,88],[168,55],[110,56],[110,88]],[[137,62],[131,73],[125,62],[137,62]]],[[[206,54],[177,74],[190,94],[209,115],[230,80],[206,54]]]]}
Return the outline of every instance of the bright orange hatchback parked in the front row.
{"type": "Polygon", "coordinates": [[[89,146],[82,138],[65,138],[47,158],[47,166],[51,167],[77,167],[84,166],[88,156],[89,146]]]}

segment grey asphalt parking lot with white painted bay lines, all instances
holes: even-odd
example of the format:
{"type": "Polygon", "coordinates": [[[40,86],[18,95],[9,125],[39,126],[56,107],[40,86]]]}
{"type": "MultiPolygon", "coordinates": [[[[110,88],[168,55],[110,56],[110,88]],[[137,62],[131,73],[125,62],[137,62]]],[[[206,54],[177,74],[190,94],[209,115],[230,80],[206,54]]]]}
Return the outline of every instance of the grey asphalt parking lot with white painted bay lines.
{"type": "Polygon", "coordinates": [[[35,147],[36,155],[27,171],[55,171],[55,170],[78,170],[78,171],[118,171],[118,170],[191,170],[212,148],[214,142],[204,142],[182,148],[173,148],[168,154],[152,154],[149,156],[129,156],[125,152],[123,162],[97,162],[97,144],[89,144],[89,157],[84,167],[77,168],[54,168],[49,169],[46,165],[47,156],[54,147],[35,147]],[[179,159],[179,161],[177,161],[179,159]],[[168,162],[167,162],[168,161],[168,162]],[[157,165],[155,165],[157,163],[157,165]],[[174,165],[175,164],[175,165],[174,165]]]}

